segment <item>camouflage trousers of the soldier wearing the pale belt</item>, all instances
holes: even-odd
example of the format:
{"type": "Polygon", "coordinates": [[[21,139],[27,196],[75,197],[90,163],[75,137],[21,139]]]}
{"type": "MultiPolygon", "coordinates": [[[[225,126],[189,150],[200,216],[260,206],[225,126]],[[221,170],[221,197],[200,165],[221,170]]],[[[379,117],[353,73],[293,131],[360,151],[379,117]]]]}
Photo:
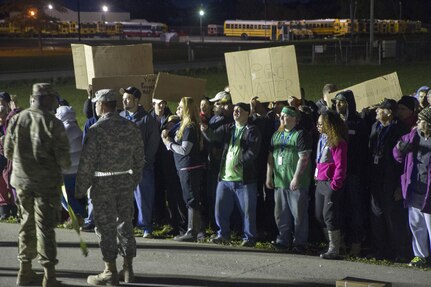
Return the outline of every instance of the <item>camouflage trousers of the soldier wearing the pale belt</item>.
{"type": "Polygon", "coordinates": [[[118,253],[136,256],[133,190],[129,175],[96,178],[91,188],[96,234],[105,262],[115,260],[118,253]]]}

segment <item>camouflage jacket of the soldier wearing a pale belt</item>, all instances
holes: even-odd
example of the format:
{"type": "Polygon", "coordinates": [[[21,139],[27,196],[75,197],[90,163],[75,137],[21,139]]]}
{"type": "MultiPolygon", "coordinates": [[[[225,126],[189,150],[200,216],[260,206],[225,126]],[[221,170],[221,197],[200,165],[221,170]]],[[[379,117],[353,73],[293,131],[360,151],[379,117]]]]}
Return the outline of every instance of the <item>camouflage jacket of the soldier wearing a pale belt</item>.
{"type": "Polygon", "coordinates": [[[133,186],[137,186],[144,164],[144,143],[138,126],[117,113],[107,113],[91,126],[84,139],[75,196],[82,198],[86,195],[93,185],[95,172],[131,169],[133,186]]]}

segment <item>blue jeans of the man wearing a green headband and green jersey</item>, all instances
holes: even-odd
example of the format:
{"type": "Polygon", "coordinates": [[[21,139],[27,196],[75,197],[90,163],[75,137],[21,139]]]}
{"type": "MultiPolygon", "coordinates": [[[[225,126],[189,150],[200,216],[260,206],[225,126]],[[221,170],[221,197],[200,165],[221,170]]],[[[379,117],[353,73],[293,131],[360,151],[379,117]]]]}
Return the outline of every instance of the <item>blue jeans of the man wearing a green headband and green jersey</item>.
{"type": "Polygon", "coordinates": [[[277,243],[305,245],[308,241],[308,187],[295,191],[274,191],[274,217],[278,227],[277,243]]]}

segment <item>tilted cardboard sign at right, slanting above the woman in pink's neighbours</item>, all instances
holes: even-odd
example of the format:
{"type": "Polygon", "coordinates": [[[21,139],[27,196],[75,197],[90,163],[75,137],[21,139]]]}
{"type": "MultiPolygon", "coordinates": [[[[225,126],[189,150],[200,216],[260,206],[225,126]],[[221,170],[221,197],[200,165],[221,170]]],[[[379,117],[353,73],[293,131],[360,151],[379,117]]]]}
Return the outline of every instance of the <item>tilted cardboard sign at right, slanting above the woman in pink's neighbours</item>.
{"type": "Polygon", "coordinates": [[[357,111],[379,104],[385,98],[398,101],[403,96],[396,72],[330,93],[328,95],[329,101],[331,101],[337,93],[346,90],[351,90],[355,95],[357,111]]]}

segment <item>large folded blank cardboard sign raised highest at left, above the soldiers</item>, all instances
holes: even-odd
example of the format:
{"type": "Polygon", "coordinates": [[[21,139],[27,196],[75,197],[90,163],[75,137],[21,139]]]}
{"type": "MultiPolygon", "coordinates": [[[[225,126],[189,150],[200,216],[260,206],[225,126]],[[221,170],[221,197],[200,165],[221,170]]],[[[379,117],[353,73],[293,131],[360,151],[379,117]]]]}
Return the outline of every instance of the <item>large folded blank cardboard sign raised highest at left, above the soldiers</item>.
{"type": "Polygon", "coordinates": [[[87,89],[93,78],[154,73],[151,44],[71,47],[77,89],[87,89]]]}

